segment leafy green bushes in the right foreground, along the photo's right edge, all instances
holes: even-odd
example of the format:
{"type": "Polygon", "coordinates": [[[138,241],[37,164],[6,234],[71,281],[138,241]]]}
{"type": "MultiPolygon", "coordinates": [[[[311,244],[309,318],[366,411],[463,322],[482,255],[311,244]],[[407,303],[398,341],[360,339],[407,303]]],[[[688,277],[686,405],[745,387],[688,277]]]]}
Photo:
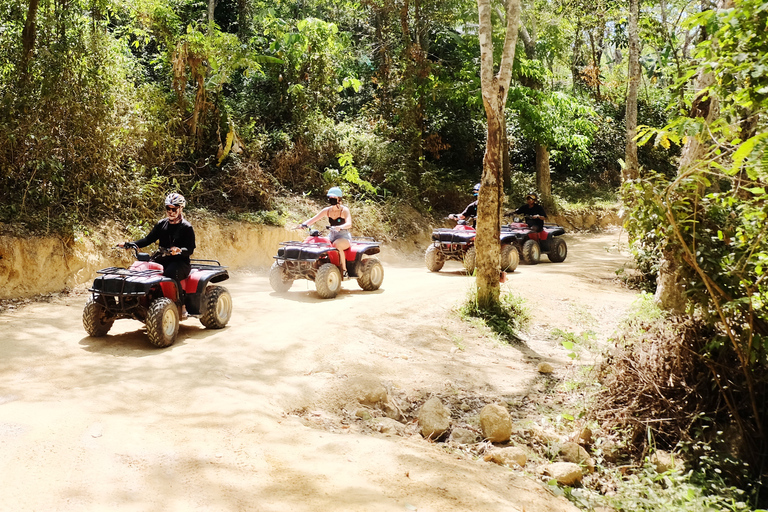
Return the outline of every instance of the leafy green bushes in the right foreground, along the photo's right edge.
{"type": "MultiPolygon", "coordinates": [[[[683,96],[680,113],[661,129],[643,128],[640,142],[696,143],[701,157],[674,174],[646,169],[637,182],[625,184],[627,226],[640,268],[653,287],[660,262],[671,260],[688,303],[681,325],[696,333],[693,341],[685,334],[655,348],[661,357],[683,348],[676,364],[686,361],[699,374],[688,380],[697,399],[675,398],[685,386],[659,391],[657,398],[668,405],[664,414],[688,421],[668,441],[682,440],[693,428],[729,425],[737,432],[732,440],[740,440],[732,453],[753,467],[762,467],[768,453],[767,22],[768,4],[755,0],[687,19],[685,28],[709,37],[696,45],[693,65],[676,70],[671,89],[682,90],[702,74],[713,77],[712,85],[683,96]],[[709,108],[719,114],[711,122],[709,108]],[[696,382],[701,378],[706,380],[696,382]]],[[[684,372],[673,373],[685,378],[684,372]]]]}

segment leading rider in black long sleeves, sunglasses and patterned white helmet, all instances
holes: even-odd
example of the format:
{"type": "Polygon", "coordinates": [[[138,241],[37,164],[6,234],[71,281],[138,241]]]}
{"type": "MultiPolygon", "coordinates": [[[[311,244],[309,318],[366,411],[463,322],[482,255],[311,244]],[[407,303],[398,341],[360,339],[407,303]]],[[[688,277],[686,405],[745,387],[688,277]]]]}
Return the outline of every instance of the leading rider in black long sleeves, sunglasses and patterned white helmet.
{"type": "MultiPolygon", "coordinates": [[[[147,236],[133,242],[137,247],[146,247],[159,242],[160,254],[153,261],[163,266],[163,275],[176,281],[189,276],[192,265],[189,257],[195,251],[195,230],[184,219],[182,210],[187,204],[181,194],[168,194],[165,198],[165,211],[168,217],[161,219],[147,236]]],[[[118,247],[125,247],[129,242],[121,242],[118,247]]]]}

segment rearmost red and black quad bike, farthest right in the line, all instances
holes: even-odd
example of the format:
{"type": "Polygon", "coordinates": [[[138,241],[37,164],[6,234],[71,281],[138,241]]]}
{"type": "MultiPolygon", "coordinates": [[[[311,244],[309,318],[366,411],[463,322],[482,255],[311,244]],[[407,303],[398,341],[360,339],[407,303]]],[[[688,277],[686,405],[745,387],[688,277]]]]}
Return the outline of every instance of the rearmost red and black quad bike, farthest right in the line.
{"type": "Polygon", "coordinates": [[[549,261],[553,263],[565,261],[568,246],[565,239],[559,238],[563,234],[565,229],[556,224],[544,224],[544,229],[536,232],[519,217],[501,226],[502,243],[516,247],[520,253],[520,259],[529,265],[537,264],[542,253],[546,254],[549,261]]]}

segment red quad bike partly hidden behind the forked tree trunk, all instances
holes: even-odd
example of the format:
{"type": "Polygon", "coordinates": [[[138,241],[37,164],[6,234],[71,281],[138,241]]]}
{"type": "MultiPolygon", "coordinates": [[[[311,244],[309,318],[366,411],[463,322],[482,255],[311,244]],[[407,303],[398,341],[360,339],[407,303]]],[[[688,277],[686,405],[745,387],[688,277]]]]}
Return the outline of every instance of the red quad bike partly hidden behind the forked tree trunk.
{"type": "MultiPolygon", "coordinates": [[[[448,219],[453,220],[452,217],[448,219]]],[[[431,272],[439,272],[446,260],[461,261],[467,274],[475,271],[477,253],[475,249],[475,228],[466,220],[456,222],[454,228],[438,228],[432,232],[432,245],[427,247],[424,259],[431,272]]],[[[503,235],[503,233],[502,233],[503,235]]],[[[520,258],[514,245],[501,238],[501,270],[514,272],[520,258]]]]}

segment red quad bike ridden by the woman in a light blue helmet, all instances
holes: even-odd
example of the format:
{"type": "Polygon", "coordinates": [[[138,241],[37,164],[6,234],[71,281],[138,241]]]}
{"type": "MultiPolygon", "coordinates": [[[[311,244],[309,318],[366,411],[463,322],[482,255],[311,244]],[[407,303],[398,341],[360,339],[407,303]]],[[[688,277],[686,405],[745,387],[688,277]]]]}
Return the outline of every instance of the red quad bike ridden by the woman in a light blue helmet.
{"type": "MultiPolygon", "coordinates": [[[[281,242],[275,262],[269,269],[269,284],[278,293],[287,292],[296,279],[315,282],[317,294],[332,299],[341,290],[342,273],[339,251],[329,238],[313,229],[302,242],[281,242]]],[[[384,281],[384,267],[377,258],[365,258],[380,252],[373,238],[353,237],[350,248],[344,251],[349,277],[365,291],[378,290],[384,281]]]]}

